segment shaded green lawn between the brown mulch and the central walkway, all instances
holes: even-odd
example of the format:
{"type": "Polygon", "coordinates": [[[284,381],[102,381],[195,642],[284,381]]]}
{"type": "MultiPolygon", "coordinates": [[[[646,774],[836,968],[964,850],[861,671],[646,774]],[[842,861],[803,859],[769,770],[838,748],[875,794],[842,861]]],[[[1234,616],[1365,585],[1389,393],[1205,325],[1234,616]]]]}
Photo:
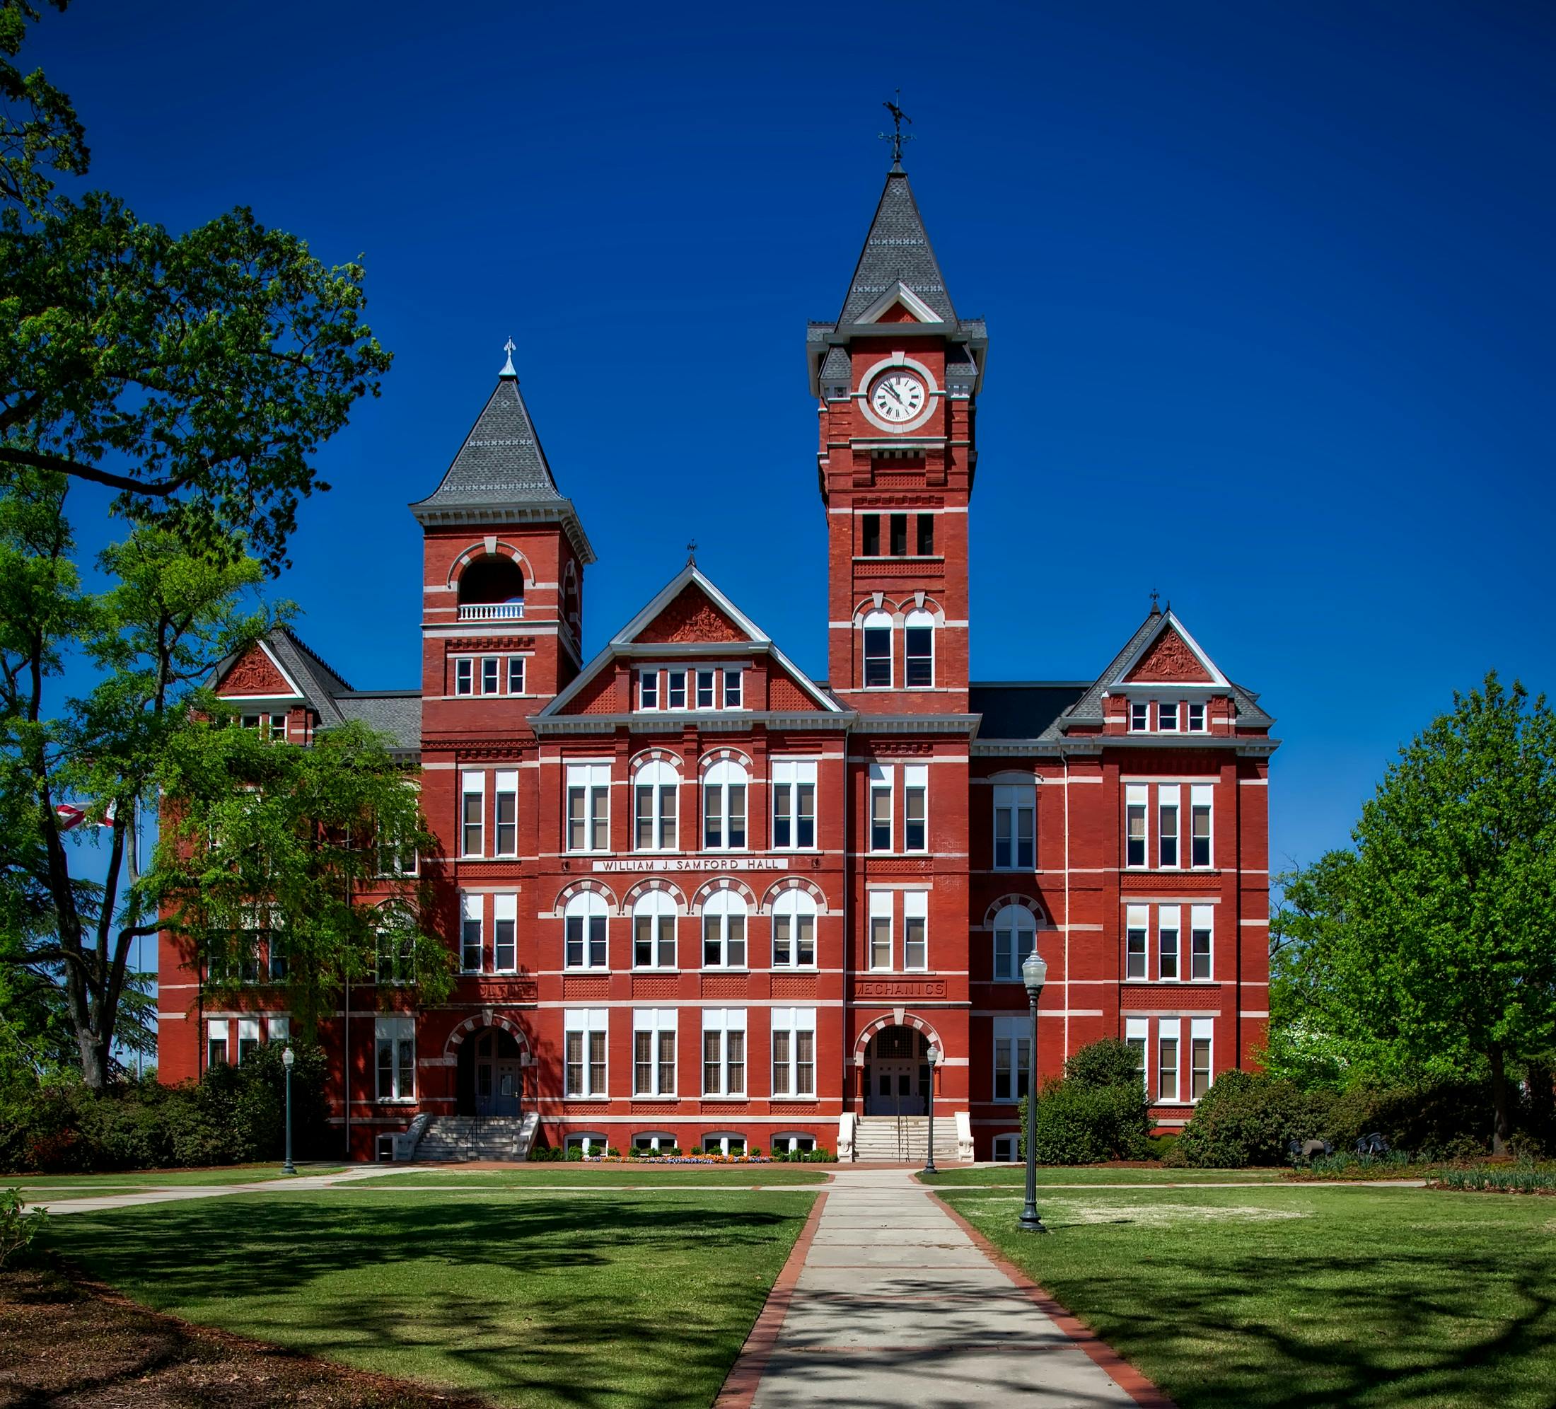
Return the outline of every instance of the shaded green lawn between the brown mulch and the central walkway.
{"type": "Polygon", "coordinates": [[[137,1302],[545,1409],[713,1401],[814,1199],[237,1194],[51,1222],[137,1302]]]}

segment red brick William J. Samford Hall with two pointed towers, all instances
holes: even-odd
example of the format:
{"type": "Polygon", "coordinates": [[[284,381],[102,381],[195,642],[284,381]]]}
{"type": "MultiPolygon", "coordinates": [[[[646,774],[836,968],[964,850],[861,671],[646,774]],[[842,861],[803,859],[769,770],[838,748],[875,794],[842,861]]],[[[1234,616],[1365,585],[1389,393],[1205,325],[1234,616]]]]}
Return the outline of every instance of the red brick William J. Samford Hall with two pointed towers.
{"type": "MultiPolygon", "coordinates": [[[[422,766],[461,978],[423,1009],[366,986],[327,1026],[358,1155],[419,1113],[549,1144],[873,1152],[856,1121],[895,1127],[932,1087],[952,1147],[1013,1157],[1033,943],[1041,1071],[1123,1037],[1161,1126],[1262,1038],[1257,697],[1155,607],[1095,680],[968,679],[988,336],[901,170],[808,352],[826,682],[694,564],[585,662],[594,554],[512,361],[412,504],[420,688],[355,691],[289,632],[224,671],[257,727],[361,718],[422,766]]],[[[213,1010],[163,939],[166,1079],[286,1031],[263,978],[213,1010]]]]}

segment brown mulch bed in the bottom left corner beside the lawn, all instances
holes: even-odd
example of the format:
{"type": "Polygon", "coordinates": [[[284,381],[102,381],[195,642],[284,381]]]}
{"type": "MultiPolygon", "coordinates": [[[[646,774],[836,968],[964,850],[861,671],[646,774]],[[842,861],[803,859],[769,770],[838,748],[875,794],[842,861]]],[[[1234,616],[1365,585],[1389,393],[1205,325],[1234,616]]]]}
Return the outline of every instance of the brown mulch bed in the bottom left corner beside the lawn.
{"type": "Polygon", "coordinates": [[[485,1409],[137,1306],[58,1272],[0,1274],[0,1409],[485,1409]]]}

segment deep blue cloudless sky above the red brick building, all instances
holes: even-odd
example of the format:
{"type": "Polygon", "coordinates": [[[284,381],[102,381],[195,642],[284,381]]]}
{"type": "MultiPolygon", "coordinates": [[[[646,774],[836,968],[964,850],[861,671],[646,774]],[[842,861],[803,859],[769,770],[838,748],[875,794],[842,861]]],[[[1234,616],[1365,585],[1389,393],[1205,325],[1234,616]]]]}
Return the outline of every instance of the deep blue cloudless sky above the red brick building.
{"type": "Polygon", "coordinates": [[[588,649],[694,536],[825,674],[804,321],[898,86],[990,322],[976,677],[1095,676],[1159,587],[1277,716],[1276,867],[1455,688],[1556,687],[1550,5],[76,0],[23,58],[143,218],[366,257],[395,366],[277,587],[358,688],[415,683],[405,504],[509,335],[599,553],[588,649]]]}

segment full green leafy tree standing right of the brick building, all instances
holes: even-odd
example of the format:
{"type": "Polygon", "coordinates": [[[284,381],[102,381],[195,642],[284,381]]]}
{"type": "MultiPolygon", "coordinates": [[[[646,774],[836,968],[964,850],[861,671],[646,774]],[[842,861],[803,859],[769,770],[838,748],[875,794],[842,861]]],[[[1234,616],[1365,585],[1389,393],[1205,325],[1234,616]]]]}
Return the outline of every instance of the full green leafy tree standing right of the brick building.
{"type": "Polygon", "coordinates": [[[1492,1147],[1516,1070],[1556,1052],[1556,718],[1495,673],[1400,749],[1351,859],[1309,873],[1302,992],[1363,1051],[1491,1079],[1492,1147]]]}

